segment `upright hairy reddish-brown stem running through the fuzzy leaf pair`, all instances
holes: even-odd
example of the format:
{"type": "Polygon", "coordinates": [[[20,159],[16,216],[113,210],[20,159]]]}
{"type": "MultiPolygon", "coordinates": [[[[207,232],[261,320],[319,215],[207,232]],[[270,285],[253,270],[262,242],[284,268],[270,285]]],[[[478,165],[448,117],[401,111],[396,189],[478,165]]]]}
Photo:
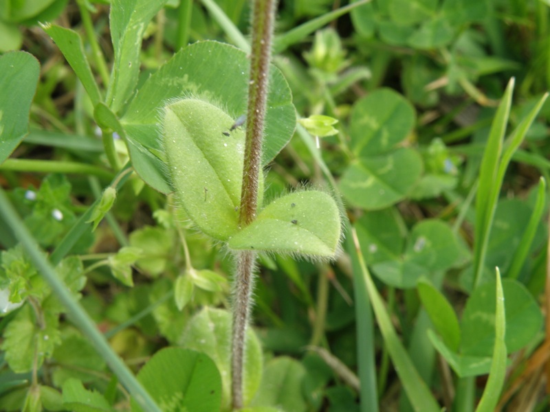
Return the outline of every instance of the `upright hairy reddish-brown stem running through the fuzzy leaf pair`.
{"type": "MultiPolygon", "coordinates": [[[[258,207],[263,126],[267,104],[275,8],[276,0],[254,0],[253,2],[250,82],[246,114],[243,185],[241,187],[241,214],[239,216],[241,227],[250,225],[256,218],[258,207]]],[[[237,255],[231,363],[234,409],[243,407],[243,354],[254,284],[255,260],[256,254],[253,251],[241,251],[237,255]]]]}

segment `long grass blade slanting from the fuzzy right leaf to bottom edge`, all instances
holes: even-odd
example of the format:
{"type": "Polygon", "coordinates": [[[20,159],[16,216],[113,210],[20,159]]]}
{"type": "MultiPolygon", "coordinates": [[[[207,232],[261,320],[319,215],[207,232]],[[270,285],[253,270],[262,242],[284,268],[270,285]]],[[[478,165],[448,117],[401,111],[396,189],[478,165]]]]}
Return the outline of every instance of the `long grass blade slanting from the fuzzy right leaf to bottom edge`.
{"type": "Polygon", "coordinates": [[[362,258],[361,247],[355,229],[352,229],[352,234],[353,240],[355,241],[355,248],[358,252],[361,271],[369,290],[369,297],[371,297],[371,304],[380,327],[380,332],[382,332],[384,343],[386,343],[391,360],[395,366],[395,371],[397,371],[397,375],[399,376],[401,385],[403,385],[405,389],[408,400],[410,400],[416,412],[439,412],[441,408],[430,392],[430,389],[428,389],[426,382],[420,377],[415,365],[412,364],[403,343],[399,341],[397,332],[395,332],[393,328],[390,315],[384,307],[384,301],[382,301],[382,297],[380,293],[378,293],[362,258]]]}

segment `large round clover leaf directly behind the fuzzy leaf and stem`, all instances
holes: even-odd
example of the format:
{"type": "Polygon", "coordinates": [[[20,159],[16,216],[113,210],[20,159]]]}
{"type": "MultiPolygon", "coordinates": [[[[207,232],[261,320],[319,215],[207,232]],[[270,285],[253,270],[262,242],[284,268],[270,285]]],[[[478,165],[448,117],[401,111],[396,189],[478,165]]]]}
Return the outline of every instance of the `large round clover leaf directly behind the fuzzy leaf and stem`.
{"type": "MultiPolygon", "coordinates": [[[[144,82],[129,104],[121,120],[126,135],[142,150],[161,150],[158,113],[166,102],[183,95],[221,104],[232,117],[223,127],[230,128],[236,117],[246,113],[249,72],[250,59],[230,45],[203,41],[182,49],[144,82]]],[[[292,94],[281,71],[272,67],[262,165],[270,163],[285,147],[295,127],[292,94]]]]}

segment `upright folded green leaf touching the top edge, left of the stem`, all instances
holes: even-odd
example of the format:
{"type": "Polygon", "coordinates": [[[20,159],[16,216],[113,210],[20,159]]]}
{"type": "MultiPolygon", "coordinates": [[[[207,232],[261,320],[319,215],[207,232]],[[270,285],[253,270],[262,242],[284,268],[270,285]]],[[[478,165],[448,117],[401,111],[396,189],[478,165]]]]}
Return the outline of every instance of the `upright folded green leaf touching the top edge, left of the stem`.
{"type": "Polygon", "coordinates": [[[140,51],[147,24],[166,0],[113,0],[111,2],[111,39],[115,52],[107,103],[119,113],[129,100],[140,72],[140,51]]]}

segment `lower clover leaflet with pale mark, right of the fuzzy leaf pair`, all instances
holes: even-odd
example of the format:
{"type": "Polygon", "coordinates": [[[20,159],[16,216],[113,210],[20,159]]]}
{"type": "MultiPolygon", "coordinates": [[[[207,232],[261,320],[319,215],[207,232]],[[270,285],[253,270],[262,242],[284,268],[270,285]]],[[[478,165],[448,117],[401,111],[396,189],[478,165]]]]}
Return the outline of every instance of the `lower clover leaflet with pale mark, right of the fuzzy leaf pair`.
{"type": "Polygon", "coordinates": [[[340,180],[340,190],[352,205],[368,210],[384,209],[405,198],[421,172],[418,152],[400,148],[386,155],[353,161],[340,180]]]}

